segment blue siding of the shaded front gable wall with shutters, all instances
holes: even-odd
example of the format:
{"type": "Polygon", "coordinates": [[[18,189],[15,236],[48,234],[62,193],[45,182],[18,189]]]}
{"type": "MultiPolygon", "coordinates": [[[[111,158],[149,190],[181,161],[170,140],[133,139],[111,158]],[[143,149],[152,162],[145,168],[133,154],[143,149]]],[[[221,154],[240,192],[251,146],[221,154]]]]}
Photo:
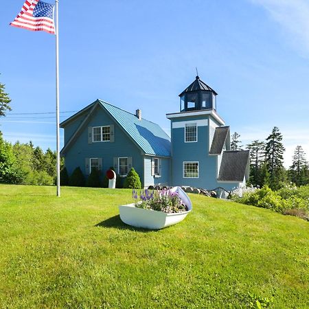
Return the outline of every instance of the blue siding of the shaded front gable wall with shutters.
{"type": "MultiPolygon", "coordinates": [[[[65,127],[65,130],[67,130],[67,127],[65,127]]],[[[96,109],[89,124],[84,127],[82,133],[67,150],[65,154],[65,166],[69,174],[78,166],[86,174],[85,159],[97,157],[102,158],[102,172],[104,173],[108,168],[113,166],[114,157],[133,157],[133,167],[139,174],[141,181],[144,179],[144,156],[141,154],[141,150],[102,108],[96,109]],[[111,124],[115,125],[114,143],[106,141],[88,144],[89,126],[109,126],[111,124]]]]}

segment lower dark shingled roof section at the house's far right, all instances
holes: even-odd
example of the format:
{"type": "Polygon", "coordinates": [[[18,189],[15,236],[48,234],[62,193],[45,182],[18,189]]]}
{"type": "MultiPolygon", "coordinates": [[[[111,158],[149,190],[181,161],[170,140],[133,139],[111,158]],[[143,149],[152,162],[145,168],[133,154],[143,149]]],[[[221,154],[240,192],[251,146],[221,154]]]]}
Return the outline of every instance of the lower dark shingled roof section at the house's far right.
{"type": "Polygon", "coordinates": [[[218,181],[242,182],[249,164],[249,155],[249,150],[223,152],[218,181]]]}

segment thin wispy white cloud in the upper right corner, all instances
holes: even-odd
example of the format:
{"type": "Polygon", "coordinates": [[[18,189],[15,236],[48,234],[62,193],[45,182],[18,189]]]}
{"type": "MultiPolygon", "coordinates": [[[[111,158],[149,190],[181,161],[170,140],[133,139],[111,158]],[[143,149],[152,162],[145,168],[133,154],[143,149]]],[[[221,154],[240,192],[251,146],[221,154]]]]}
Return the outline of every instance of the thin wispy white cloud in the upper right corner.
{"type": "Polygon", "coordinates": [[[262,5],[271,18],[282,25],[286,38],[302,56],[309,58],[308,0],[250,0],[262,5]]]}

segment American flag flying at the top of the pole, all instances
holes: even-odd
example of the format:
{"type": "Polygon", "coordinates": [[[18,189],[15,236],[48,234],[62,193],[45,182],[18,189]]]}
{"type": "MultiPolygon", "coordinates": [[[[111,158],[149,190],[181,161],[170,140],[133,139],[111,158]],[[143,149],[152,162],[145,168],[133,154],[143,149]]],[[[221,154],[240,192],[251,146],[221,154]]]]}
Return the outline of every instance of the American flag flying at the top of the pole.
{"type": "Polygon", "coordinates": [[[55,34],[53,15],[54,5],[38,0],[26,0],[21,12],[10,25],[55,34]]]}

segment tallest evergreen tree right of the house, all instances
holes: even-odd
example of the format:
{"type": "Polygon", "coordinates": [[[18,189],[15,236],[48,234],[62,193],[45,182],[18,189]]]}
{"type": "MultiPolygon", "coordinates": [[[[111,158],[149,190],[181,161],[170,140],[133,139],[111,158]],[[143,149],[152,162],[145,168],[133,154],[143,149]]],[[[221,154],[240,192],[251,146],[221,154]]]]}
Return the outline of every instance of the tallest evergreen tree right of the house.
{"type": "Polygon", "coordinates": [[[282,144],[282,134],[275,126],[266,138],[265,159],[269,172],[269,185],[277,190],[286,181],[286,172],[283,167],[283,154],[285,148],[282,144]]]}

